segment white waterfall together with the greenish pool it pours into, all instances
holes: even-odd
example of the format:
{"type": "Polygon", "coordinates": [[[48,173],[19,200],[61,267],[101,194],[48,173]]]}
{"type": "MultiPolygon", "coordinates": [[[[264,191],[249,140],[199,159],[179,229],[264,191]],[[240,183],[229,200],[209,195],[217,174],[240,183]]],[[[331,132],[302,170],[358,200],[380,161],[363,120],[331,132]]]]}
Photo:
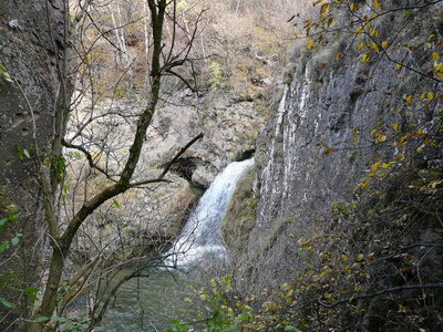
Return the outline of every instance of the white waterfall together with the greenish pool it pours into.
{"type": "MultiPolygon", "coordinates": [[[[174,263],[185,272],[158,269],[152,271],[150,278],[124,283],[115,305],[106,312],[102,326],[94,332],[164,331],[171,326],[172,319],[182,318],[190,322],[195,318],[195,309],[183,299],[188,294],[188,284],[204,279],[199,267],[207,268],[214,261],[223,261],[225,248],[219,239],[219,225],[237,181],[253,165],[254,159],[229,164],[190,214],[166,259],[168,264],[174,263]]],[[[198,326],[194,328],[198,331],[198,326]]]]}

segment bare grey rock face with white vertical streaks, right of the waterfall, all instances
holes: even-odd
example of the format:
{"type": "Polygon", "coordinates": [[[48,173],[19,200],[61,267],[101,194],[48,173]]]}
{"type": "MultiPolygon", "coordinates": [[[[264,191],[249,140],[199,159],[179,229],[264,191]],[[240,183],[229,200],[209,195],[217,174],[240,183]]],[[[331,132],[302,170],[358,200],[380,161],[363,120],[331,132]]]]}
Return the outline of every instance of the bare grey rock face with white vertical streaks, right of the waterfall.
{"type": "MultiPolygon", "coordinates": [[[[435,115],[431,113],[439,108],[413,115],[403,112],[405,84],[409,91],[421,91],[426,82],[399,71],[387,59],[363,64],[352,58],[337,64],[334,54],[344,52],[339,43],[308,53],[303,45],[300,50],[256,154],[259,200],[249,255],[258,257],[256,251],[262,250],[257,266],[260,271],[279,271],[275,276],[284,274],[288,260],[295,259],[288,253],[297,247],[293,235],[313,220],[330,221],[332,204],[356,198],[370,165],[392,160],[402,152],[392,144],[398,137],[392,124],[430,125],[435,115]],[[328,68],[322,68],[326,62],[328,68]],[[374,132],[385,135],[379,144],[374,132]]],[[[410,54],[402,55],[416,65],[410,54]]]]}

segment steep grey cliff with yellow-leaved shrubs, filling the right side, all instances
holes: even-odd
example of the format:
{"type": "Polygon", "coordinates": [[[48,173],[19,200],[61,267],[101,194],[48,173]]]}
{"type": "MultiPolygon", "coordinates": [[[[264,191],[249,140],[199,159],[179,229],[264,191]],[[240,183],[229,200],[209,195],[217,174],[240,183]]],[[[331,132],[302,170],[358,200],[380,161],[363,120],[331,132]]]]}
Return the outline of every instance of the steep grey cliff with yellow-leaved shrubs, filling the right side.
{"type": "Polygon", "coordinates": [[[258,186],[270,187],[259,191],[254,249],[243,256],[257,266],[238,259],[245,269],[217,280],[229,290],[205,290],[212,312],[219,326],[238,331],[439,331],[441,1],[316,3],[317,15],[290,19],[306,37],[286,74],[288,106],[260,138],[259,151],[272,155],[259,160],[258,186]],[[303,131],[317,114],[312,134],[303,131]],[[297,134],[307,135],[305,146],[291,141],[297,134]],[[317,168],[291,168],[300,148],[311,148],[305,162],[317,168]],[[318,191],[297,196],[280,180],[292,179],[282,167],[303,184],[308,173],[318,191]],[[269,236],[276,227],[277,239],[269,236]]]}

